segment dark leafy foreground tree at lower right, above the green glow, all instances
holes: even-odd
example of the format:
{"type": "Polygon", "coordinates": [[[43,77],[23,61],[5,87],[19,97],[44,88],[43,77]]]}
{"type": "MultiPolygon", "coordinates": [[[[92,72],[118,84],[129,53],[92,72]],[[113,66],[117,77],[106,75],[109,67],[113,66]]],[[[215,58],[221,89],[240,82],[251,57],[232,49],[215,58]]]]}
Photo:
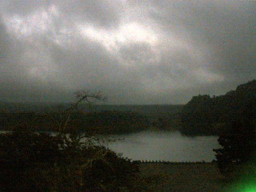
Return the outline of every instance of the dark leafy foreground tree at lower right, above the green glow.
{"type": "Polygon", "coordinates": [[[256,184],[255,119],[232,122],[231,128],[220,134],[218,142],[222,147],[214,152],[220,173],[231,182],[256,184]]]}

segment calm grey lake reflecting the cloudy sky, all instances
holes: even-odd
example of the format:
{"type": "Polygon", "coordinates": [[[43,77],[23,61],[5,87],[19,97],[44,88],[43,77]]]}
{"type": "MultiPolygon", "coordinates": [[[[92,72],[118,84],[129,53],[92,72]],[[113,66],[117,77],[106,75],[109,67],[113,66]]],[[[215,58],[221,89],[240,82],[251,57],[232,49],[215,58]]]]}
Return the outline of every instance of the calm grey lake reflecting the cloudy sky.
{"type": "Polygon", "coordinates": [[[215,158],[212,149],[220,148],[217,136],[188,137],[178,131],[148,130],[114,137],[124,140],[108,143],[109,148],[132,160],[211,162],[215,158]]]}

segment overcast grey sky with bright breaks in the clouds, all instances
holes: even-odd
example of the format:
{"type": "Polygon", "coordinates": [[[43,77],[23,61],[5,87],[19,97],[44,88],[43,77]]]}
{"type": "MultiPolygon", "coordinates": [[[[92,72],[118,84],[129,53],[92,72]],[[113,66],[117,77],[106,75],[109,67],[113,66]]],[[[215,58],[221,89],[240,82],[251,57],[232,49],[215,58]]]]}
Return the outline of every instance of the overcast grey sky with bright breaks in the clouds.
{"type": "Polygon", "coordinates": [[[3,101],[184,104],[254,78],[254,0],[0,1],[3,101]]]}

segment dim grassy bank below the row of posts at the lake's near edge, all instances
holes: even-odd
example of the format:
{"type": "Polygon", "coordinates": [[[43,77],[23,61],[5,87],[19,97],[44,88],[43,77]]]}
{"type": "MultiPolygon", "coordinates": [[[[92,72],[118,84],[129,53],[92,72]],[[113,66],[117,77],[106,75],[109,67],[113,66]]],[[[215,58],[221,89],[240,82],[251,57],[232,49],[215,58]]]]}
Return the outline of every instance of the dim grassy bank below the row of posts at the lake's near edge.
{"type": "Polygon", "coordinates": [[[148,192],[221,192],[225,186],[214,163],[141,163],[140,171],[148,192]]]}

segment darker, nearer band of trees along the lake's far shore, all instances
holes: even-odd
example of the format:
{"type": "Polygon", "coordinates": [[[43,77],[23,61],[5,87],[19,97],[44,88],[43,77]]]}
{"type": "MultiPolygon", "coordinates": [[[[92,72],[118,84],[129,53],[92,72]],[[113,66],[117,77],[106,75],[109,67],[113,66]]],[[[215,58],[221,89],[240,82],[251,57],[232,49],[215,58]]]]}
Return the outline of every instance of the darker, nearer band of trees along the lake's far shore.
{"type": "MultiPolygon", "coordinates": [[[[58,132],[61,118],[65,114],[51,112],[48,114],[39,112],[2,112],[0,127],[4,130],[12,130],[19,124],[32,122],[30,126],[34,131],[58,132]]],[[[127,134],[145,130],[150,126],[146,116],[134,112],[73,112],[70,115],[68,129],[76,128],[81,132],[94,132],[96,134],[127,134]]]]}

